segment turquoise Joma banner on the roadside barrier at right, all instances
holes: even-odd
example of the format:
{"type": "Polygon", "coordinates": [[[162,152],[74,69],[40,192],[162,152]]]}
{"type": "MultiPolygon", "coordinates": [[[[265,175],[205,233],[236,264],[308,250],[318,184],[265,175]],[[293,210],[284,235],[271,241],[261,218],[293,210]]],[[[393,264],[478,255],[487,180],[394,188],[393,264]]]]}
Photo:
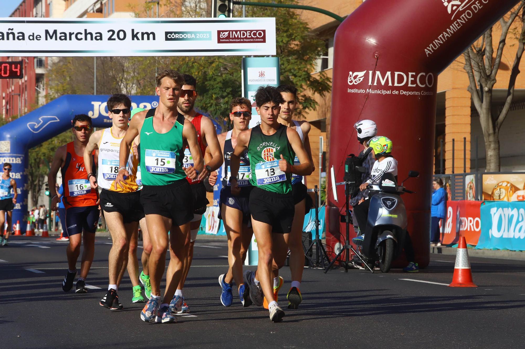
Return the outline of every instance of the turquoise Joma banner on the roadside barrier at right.
{"type": "Polygon", "coordinates": [[[477,249],[525,251],[525,202],[481,205],[481,236],[477,249]]]}

